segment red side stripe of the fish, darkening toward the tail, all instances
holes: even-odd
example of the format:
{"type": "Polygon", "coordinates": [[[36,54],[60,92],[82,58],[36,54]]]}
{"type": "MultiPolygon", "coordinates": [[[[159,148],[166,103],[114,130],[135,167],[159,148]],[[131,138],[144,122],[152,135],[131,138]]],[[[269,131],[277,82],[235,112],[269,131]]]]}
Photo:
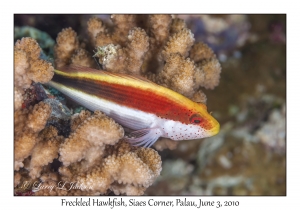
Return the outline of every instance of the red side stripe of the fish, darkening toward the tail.
{"type": "Polygon", "coordinates": [[[186,109],[184,104],[174,103],[169,98],[151,90],[141,90],[136,87],[58,74],[54,75],[52,81],[126,107],[153,113],[159,117],[186,124],[190,123],[189,116],[193,114],[193,110],[186,109]]]}

